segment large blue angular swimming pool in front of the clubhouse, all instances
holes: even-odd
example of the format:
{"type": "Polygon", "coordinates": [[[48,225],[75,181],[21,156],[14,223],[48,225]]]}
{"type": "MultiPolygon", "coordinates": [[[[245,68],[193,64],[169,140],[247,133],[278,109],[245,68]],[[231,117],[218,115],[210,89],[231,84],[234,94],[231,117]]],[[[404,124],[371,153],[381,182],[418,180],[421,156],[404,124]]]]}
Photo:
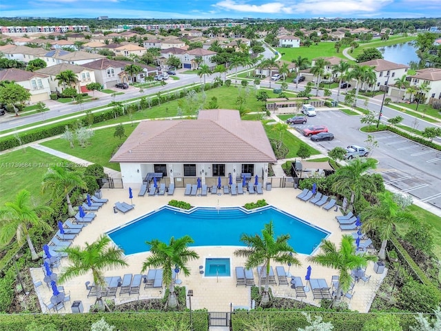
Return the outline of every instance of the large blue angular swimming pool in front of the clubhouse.
{"type": "Polygon", "coordinates": [[[168,243],[171,237],[179,238],[185,234],[194,240],[192,246],[243,246],[241,234],[261,234],[270,220],[274,223],[276,236],[291,235],[289,244],[298,253],[311,254],[329,235],[326,230],[272,206],[251,212],[239,207],[196,207],[181,211],[164,206],[107,234],[125,254],[148,251],[150,248],[145,241],[158,239],[168,243]]]}

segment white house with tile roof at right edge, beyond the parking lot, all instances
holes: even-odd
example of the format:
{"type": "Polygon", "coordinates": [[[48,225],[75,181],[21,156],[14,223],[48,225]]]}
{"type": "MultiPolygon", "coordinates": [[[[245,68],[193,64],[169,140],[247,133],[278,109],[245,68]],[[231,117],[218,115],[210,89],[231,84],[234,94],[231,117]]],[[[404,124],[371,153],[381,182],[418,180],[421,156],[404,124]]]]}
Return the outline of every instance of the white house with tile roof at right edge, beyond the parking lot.
{"type": "MultiPolygon", "coordinates": [[[[416,97],[422,103],[439,103],[441,99],[441,69],[440,68],[424,68],[416,70],[416,74],[407,77],[410,79],[411,85],[421,88],[424,85],[424,89],[420,89],[418,94],[421,94],[421,99],[416,97]],[[426,90],[427,89],[427,90],[426,90]]],[[[407,94],[407,97],[410,97],[407,94]]]]}

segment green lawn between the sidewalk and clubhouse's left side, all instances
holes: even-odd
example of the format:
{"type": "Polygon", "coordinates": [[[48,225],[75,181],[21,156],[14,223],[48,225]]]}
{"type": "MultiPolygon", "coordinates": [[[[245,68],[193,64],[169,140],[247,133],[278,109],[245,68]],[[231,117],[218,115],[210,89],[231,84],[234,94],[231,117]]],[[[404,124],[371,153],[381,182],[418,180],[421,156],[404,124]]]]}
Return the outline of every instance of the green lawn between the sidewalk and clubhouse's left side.
{"type": "MultiPolygon", "coordinates": [[[[124,126],[125,135],[127,137],[132,133],[134,128],[136,128],[136,125],[137,124],[134,123],[134,126],[130,124],[124,126]]],[[[75,144],[74,148],[70,148],[69,142],[61,138],[45,141],[41,143],[41,145],[119,171],[119,163],[110,163],[109,160],[112,157],[112,152],[125,141],[125,138],[119,139],[118,137],[113,137],[114,131],[114,128],[95,130],[95,134],[92,139],[90,139],[90,145],[87,148],[81,148],[78,144],[75,144]],[[105,141],[105,143],[103,143],[103,141],[105,141]]]]}

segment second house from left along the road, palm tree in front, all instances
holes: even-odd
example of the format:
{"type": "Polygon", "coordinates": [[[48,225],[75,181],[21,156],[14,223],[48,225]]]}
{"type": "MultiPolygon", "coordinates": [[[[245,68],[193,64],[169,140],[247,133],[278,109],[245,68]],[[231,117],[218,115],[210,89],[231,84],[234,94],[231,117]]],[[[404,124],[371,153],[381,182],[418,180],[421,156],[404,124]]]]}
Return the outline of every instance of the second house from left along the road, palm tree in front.
{"type": "Polygon", "coordinates": [[[49,76],[49,85],[52,92],[63,92],[63,85],[60,85],[59,81],[55,77],[60,72],[66,70],[71,70],[76,74],[76,79],[78,79],[78,83],[76,83],[75,87],[78,92],[88,92],[88,88],[86,88],[86,85],[96,82],[94,70],[82,66],[76,66],[70,63],[59,63],[55,66],[39,69],[36,72],[40,74],[47,74],[49,76]]]}

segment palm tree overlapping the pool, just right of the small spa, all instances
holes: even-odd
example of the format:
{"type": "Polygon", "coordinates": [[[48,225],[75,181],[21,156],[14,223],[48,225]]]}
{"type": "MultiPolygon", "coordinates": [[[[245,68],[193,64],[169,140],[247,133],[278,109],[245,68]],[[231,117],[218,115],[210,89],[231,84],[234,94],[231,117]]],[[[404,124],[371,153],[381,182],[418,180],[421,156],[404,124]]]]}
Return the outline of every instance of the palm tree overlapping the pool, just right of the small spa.
{"type": "MultiPolygon", "coordinates": [[[[273,222],[265,224],[262,230],[262,237],[258,234],[249,235],[242,234],[240,241],[247,245],[247,248],[241,248],[234,252],[236,257],[246,257],[247,262],[245,267],[247,269],[256,268],[262,265],[261,273],[266,272],[269,275],[271,259],[278,263],[291,263],[291,265],[300,265],[300,261],[294,254],[296,252],[289,245],[288,241],[291,238],[289,234],[281,234],[274,239],[273,222]]],[[[259,280],[263,274],[259,275],[259,280]]],[[[269,277],[265,277],[265,290],[263,290],[262,301],[260,305],[267,305],[269,303],[269,277]]],[[[260,283],[259,283],[260,291],[260,283]]]]}

